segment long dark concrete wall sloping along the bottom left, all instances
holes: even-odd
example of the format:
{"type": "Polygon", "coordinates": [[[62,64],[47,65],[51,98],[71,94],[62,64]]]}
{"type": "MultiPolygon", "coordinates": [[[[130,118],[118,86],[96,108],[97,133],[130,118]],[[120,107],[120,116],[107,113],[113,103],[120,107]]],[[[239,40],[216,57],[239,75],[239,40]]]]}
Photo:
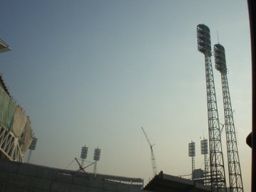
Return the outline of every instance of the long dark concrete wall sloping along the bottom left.
{"type": "MultiPolygon", "coordinates": [[[[54,169],[0,159],[1,192],[138,192],[143,183],[117,183],[107,175],[54,169]]],[[[131,178],[132,181],[132,178],[131,178]]]]}

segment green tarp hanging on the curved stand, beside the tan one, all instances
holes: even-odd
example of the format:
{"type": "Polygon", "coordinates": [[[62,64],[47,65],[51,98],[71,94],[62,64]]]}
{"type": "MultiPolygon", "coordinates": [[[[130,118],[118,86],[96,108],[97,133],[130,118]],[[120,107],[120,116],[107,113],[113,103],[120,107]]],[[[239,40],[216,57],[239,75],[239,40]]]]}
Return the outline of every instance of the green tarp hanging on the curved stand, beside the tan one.
{"type": "Polygon", "coordinates": [[[15,109],[16,103],[0,85],[0,124],[5,129],[11,130],[15,109]]]}

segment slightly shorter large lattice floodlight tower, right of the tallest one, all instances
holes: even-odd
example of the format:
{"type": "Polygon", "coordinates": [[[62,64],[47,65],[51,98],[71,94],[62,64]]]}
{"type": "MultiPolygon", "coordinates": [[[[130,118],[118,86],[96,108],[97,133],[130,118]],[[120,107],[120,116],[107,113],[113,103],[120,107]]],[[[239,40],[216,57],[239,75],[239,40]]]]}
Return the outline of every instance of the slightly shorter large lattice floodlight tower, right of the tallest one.
{"type": "Polygon", "coordinates": [[[235,124],[233,110],[228,88],[227,65],[225,60],[225,49],[220,43],[214,46],[215,68],[221,74],[221,84],[223,90],[223,105],[225,115],[225,133],[228,151],[228,174],[230,181],[230,191],[243,192],[242,174],[238,156],[238,144],[235,136],[235,124]]]}

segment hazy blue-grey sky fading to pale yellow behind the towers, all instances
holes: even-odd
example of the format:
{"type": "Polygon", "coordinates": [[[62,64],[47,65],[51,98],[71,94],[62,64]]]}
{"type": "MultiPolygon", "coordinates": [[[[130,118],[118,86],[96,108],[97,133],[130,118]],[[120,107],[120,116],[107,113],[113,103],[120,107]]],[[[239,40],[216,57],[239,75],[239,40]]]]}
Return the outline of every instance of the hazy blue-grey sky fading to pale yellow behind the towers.
{"type": "MultiPolygon", "coordinates": [[[[141,127],[154,144],[158,172],[191,174],[192,140],[196,169],[204,169],[206,76],[196,26],[206,24],[212,48],[225,47],[243,185],[250,190],[247,1],[1,1],[0,10],[0,38],[12,49],[1,53],[0,73],[38,138],[31,163],[76,170],[81,147],[89,148],[87,165],[98,146],[98,173],[145,184],[152,169],[141,127]]],[[[223,123],[220,73],[212,63],[223,123]]],[[[228,182],[224,132],[222,141],[228,182]]]]}

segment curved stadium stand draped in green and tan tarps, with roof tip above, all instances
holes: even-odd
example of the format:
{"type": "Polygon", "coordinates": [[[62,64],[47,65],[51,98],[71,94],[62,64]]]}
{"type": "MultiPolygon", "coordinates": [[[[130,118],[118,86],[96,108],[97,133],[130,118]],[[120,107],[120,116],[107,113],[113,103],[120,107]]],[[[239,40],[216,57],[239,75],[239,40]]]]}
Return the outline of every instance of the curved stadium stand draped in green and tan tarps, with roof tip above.
{"type": "MultiPolygon", "coordinates": [[[[0,53],[11,50],[0,39],[0,53]]],[[[31,121],[17,105],[0,75],[0,157],[23,162],[23,157],[33,139],[31,121]]]]}

